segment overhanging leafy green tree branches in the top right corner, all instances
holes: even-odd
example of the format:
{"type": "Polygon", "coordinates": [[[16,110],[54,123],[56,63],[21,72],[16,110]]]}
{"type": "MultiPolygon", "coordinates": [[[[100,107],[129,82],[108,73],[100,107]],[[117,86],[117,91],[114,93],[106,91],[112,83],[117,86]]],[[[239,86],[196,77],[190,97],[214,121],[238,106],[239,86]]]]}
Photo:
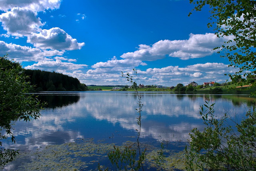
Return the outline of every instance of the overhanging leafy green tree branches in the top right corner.
{"type": "MultiPolygon", "coordinates": [[[[230,78],[256,74],[256,1],[255,0],[190,0],[195,5],[193,10],[200,11],[210,7],[208,27],[214,27],[218,37],[229,36],[231,39],[221,47],[230,61],[229,66],[239,68],[230,78]],[[248,72],[250,71],[250,72],[248,72]]],[[[192,12],[193,12],[192,10],[192,12]]],[[[190,12],[189,16],[192,14],[190,12]]]]}

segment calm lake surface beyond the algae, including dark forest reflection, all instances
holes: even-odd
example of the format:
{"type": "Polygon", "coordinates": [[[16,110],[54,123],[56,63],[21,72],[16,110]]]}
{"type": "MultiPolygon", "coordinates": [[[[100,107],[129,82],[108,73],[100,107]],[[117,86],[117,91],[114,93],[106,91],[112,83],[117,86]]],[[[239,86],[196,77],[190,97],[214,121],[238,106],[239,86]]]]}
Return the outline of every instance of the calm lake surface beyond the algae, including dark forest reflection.
{"type": "MultiPolygon", "coordinates": [[[[34,152],[47,145],[63,145],[80,140],[111,146],[136,141],[138,104],[134,92],[49,92],[38,95],[38,98],[48,102],[48,106],[41,111],[39,120],[16,122],[13,131],[16,144],[5,143],[7,147],[20,149],[21,152],[34,152]]],[[[246,109],[255,105],[254,99],[249,95],[188,95],[168,92],[140,92],[140,95],[144,104],[140,141],[152,147],[159,147],[160,142],[165,142],[168,143],[166,148],[172,151],[184,149],[192,128],[203,129],[199,107],[206,99],[215,103],[217,117],[222,117],[228,111],[232,118],[238,120],[244,116],[246,109]]],[[[35,162],[33,159],[23,158],[16,163],[12,162],[6,169],[24,170],[22,165],[31,161],[35,162]]],[[[93,161],[95,164],[91,163],[80,169],[93,169],[98,163],[102,164],[95,157],[93,161]]],[[[106,164],[107,159],[102,162],[106,164]]]]}

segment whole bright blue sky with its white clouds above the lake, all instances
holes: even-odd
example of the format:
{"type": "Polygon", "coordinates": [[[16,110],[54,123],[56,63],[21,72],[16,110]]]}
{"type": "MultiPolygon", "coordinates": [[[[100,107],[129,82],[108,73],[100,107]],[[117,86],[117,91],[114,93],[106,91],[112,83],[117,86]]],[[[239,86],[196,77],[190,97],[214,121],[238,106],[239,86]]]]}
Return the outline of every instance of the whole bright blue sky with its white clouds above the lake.
{"type": "Polygon", "coordinates": [[[188,0],[0,0],[0,55],[26,69],[55,71],[86,85],[175,86],[225,82],[234,68],[212,51],[229,38],[207,28],[209,9],[188,0]]]}

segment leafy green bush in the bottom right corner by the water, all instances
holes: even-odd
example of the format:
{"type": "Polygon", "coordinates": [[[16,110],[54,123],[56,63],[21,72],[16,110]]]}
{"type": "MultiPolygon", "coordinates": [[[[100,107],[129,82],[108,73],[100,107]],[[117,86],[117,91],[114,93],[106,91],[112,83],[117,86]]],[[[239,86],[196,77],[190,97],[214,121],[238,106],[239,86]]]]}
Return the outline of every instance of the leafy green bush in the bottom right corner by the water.
{"type": "Polygon", "coordinates": [[[247,111],[241,123],[233,121],[234,130],[214,115],[214,103],[200,106],[206,127],[190,133],[190,149],[186,149],[186,169],[191,170],[256,170],[256,109],[247,111]],[[206,109],[204,109],[206,107],[206,109]]]}

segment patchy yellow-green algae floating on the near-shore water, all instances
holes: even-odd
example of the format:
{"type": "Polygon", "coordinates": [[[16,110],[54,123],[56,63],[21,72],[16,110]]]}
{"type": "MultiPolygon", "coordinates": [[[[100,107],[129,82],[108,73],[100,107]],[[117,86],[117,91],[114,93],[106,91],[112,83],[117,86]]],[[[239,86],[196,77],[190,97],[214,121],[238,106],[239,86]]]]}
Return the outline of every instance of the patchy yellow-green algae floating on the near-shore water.
{"type": "MultiPolygon", "coordinates": [[[[114,143],[94,143],[94,139],[76,139],[75,142],[61,145],[48,145],[44,149],[20,153],[16,159],[16,161],[20,162],[16,170],[98,170],[98,165],[105,165],[104,167],[112,168],[107,153],[114,149],[114,145],[114,143]]],[[[118,147],[124,149],[126,146],[136,149],[137,142],[126,141],[118,147]]],[[[154,161],[160,148],[149,145],[149,143],[140,143],[140,147],[142,149],[146,148],[146,160],[144,161],[144,165],[148,167],[148,169],[155,168],[161,170],[162,168],[156,165],[154,161]]],[[[164,160],[166,170],[185,169],[184,151],[177,153],[164,149],[164,154],[166,156],[164,160]]]]}

